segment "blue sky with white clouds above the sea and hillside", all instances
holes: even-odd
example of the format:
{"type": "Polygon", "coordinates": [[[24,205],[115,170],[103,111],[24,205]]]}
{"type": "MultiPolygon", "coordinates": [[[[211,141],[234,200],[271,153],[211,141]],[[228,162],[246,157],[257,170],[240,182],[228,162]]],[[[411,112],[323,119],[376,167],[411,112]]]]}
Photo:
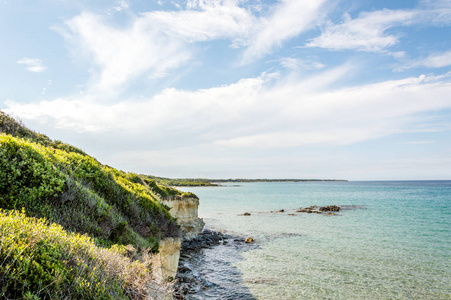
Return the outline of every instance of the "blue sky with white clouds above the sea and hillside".
{"type": "Polygon", "coordinates": [[[451,179],[451,0],[0,0],[0,109],[177,178],[451,179]]]}

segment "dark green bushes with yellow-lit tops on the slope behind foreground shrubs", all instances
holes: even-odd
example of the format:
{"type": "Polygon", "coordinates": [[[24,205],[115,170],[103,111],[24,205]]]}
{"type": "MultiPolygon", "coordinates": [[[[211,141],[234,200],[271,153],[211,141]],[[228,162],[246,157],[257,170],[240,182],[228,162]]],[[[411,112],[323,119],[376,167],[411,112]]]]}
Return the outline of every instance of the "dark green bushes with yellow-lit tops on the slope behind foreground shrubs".
{"type": "Polygon", "coordinates": [[[159,196],[94,158],[0,134],[0,207],[25,208],[106,245],[158,247],[179,228],[159,196]]]}

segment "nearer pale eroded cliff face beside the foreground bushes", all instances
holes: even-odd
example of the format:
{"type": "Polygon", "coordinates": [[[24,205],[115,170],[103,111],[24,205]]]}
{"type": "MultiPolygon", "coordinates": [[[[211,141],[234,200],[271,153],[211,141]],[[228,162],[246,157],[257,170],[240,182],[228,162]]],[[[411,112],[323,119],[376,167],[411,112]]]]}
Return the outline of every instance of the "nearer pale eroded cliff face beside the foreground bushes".
{"type": "Polygon", "coordinates": [[[174,280],[180,258],[182,240],[179,237],[160,241],[159,252],[152,255],[152,274],[157,282],[174,280]]]}

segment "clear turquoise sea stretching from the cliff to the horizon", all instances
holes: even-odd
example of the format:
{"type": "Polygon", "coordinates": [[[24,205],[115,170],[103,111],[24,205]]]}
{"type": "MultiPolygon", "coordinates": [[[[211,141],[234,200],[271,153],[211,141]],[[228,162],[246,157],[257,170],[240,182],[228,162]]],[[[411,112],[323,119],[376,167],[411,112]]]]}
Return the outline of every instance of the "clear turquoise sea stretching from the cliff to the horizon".
{"type": "Polygon", "coordinates": [[[189,299],[451,299],[451,181],[183,190],[208,229],[234,237],[192,257],[209,287],[189,299]],[[296,212],[313,205],[341,210],[296,212]]]}

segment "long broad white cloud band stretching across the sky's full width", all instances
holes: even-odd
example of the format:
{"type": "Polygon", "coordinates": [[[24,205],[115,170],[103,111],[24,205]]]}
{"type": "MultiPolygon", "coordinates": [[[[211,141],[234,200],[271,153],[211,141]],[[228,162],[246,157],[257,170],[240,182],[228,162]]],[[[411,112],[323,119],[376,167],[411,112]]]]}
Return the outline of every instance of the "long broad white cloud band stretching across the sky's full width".
{"type": "Polygon", "coordinates": [[[114,133],[118,139],[144,134],[146,140],[165,141],[166,147],[272,149],[345,145],[424,131],[429,125],[422,114],[451,109],[449,77],[330,88],[349,68],[300,81],[264,74],[198,91],[166,89],[133,104],[107,105],[89,97],[32,104],[8,101],[6,111],[66,130],[114,133]]]}

